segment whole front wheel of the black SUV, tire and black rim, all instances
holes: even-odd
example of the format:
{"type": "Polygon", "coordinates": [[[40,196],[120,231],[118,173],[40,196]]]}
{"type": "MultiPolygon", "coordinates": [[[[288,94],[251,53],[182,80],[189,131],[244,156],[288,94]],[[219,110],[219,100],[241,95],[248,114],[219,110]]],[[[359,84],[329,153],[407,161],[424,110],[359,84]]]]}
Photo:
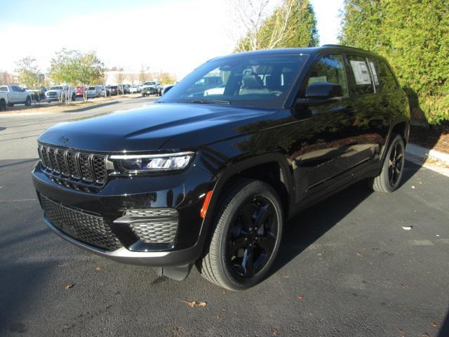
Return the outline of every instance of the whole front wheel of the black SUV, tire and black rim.
{"type": "Polygon", "coordinates": [[[267,277],[279,251],[281,201],[267,183],[242,180],[220,204],[213,236],[197,266],[218,286],[248,289],[267,277]]]}

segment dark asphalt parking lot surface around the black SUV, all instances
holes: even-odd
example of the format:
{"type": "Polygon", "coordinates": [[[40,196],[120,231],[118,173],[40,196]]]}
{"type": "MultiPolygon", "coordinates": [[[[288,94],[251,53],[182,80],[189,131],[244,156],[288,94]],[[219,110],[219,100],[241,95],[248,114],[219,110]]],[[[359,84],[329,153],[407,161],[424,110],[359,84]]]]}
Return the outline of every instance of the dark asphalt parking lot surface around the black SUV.
{"type": "Polygon", "coordinates": [[[36,136],[149,102],[0,116],[0,336],[449,336],[449,178],[410,161],[394,194],[361,183],[291,220],[272,275],[239,293],[56,237],[30,177],[36,136]]]}

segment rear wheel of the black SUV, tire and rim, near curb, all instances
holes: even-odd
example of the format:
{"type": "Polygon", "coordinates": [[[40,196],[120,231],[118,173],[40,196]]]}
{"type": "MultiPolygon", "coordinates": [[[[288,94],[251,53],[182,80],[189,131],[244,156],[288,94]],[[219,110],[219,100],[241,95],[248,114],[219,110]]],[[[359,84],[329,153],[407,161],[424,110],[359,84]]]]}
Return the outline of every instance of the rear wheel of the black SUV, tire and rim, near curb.
{"type": "Polygon", "coordinates": [[[368,185],[376,192],[391,193],[401,184],[406,147],[401,136],[393,134],[385,155],[380,175],[368,180],[368,185]]]}

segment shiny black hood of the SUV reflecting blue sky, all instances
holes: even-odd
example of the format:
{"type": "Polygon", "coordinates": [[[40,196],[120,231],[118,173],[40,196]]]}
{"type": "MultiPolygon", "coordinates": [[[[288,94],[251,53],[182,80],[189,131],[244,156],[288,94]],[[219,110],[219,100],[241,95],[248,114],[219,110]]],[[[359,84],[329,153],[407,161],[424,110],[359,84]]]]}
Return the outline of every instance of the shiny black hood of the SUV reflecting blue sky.
{"type": "Polygon", "coordinates": [[[240,126],[275,112],[227,105],[154,104],[56,124],[39,141],[93,152],[121,152],[160,150],[170,140],[170,148],[182,149],[239,136],[240,126]]]}

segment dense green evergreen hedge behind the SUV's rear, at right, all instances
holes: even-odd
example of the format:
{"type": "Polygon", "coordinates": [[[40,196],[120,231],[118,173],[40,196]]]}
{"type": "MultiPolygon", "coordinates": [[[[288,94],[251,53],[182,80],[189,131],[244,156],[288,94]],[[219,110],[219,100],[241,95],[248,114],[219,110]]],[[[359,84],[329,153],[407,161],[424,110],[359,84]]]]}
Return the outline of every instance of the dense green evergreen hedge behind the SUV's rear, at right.
{"type": "Polygon", "coordinates": [[[345,0],[340,43],[389,60],[417,95],[429,123],[449,120],[449,6],[446,0],[345,0]]]}

